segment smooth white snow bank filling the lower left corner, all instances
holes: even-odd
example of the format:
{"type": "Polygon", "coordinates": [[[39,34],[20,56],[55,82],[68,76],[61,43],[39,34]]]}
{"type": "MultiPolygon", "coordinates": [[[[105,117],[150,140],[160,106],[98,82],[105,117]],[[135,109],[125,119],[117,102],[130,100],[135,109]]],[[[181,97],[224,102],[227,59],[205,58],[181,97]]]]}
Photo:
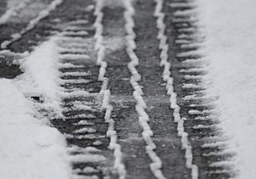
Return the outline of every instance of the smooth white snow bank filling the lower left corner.
{"type": "Polygon", "coordinates": [[[34,117],[31,101],[11,80],[0,79],[0,178],[70,178],[62,134],[34,117]]]}

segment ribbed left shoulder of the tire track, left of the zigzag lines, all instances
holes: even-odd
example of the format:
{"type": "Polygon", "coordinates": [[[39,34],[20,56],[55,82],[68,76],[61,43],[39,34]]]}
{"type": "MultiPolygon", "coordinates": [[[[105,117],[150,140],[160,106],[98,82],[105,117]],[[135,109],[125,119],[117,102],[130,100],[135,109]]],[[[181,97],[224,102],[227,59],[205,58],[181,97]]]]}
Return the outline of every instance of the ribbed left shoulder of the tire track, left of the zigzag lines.
{"type": "Polygon", "coordinates": [[[58,40],[63,118],[52,123],[66,136],[73,178],[110,176],[114,161],[107,149],[109,126],[102,111],[104,96],[100,93],[99,69],[94,66],[96,53],[91,51],[94,38],[85,33],[92,26],[87,19],[71,22],[58,40]]]}

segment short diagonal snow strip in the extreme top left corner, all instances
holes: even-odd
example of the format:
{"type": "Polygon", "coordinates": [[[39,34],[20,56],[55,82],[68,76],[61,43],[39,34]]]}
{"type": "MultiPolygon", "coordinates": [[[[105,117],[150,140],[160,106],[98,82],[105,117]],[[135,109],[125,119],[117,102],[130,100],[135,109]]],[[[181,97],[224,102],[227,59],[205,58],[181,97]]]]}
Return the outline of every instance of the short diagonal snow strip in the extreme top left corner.
{"type": "Polygon", "coordinates": [[[18,6],[11,7],[9,10],[6,11],[5,14],[2,14],[2,16],[0,17],[0,25],[5,24],[12,15],[17,13],[18,10],[26,7],[28,2],[30,2],[30,0],[23,0],[22,2],[18,3],[18,6]]]}

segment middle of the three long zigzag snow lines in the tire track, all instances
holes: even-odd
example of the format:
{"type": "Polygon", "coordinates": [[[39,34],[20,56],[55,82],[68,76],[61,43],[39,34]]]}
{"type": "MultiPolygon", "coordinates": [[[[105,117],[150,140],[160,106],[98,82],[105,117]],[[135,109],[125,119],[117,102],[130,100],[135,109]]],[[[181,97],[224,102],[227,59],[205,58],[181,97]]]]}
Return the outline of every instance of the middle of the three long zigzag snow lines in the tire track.
{"type": "Polygon", "coordinates": [[[148,124],[148,121],[150,121],[150,117],[146,113],[146,103],[143,100],[143,92],[141,86],[138,84],[138,82],[141,80],[140,74],[138,74],[138,71],[136,70],[136,66],[139,64],[139,60],[137,55],[134,53],[134,50],[136,49],[136,43],[134,42],[134,39],[136,38],[136,34],[134,33],[134,6],[132,5],[132,0],[126,0],[124,1],[126,11],[124,13],[124,18],[126,20],[126,53],[128,54],[130,58],[130,63],[128,64],[128,68],[130,70],[130,73],[132,74],[130,78],[130,84],[134,88],[134,98],[137,101],[136,105],[136,111],[139,115],[139,123],[142,126],[142,137],[144,141],[146,142],[146,153],[149,155],[151,159],[150,163],[150,169],[152,173],[154,174],[154,177],[158,179],[165,179],[166,177],[163,176],[162,173],[162,161],[158,157],[157,153],[154,152],[154,149],[156,149],[156,145],[154,144],[154,141],[152,139],[152,136],[154,135],[153,131],[150,129],[150,125],[148,124]]]}

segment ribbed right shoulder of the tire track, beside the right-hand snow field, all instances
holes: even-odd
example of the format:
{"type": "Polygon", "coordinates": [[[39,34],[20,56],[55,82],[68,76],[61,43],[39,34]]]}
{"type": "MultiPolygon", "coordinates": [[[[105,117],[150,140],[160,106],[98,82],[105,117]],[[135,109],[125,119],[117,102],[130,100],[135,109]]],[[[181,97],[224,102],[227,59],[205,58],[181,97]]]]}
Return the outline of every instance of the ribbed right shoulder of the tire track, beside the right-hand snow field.
{"type": "Polygon", "coordinates": [[[198,165],[200,178],[230,178],[233,153],[226,149],[226,137],[218,129],[218,114],[214,109],[214,98],[204,93],[202,78],[206,74],[200,46],[204,36],[198,26],[196,3],[189,0],[166,1],[166,25],[170,31],[166,35],[175,38],[173,66],[174,90],[181,117],[189,134],[193,148],[193,162],[198,165]],[[182,84],[182,85],[181,85],[182,84]]]}

